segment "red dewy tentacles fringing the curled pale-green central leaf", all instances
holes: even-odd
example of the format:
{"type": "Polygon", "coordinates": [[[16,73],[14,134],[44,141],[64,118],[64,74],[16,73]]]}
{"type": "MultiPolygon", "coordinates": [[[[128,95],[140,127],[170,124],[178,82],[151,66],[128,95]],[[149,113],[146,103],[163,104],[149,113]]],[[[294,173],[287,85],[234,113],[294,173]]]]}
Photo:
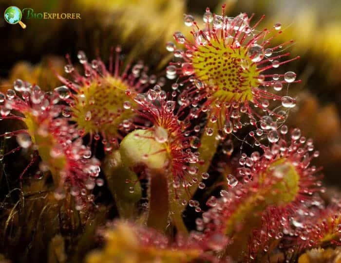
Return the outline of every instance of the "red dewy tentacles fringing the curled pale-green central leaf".
{"type": "MultiPolygon", "coordinates": [[[[197,152],[201,145],[197,137],[200,127],[190,128],[190,121],[194,119],[195,114],[191,110],[188,114],[184,114],[188,109],[186,99],[178,99],[177,105],[176,93],[172,93],[171,96],[172,100],[169,100],[168,94],[158,85],[149,89],[145,94],[137,94],[134,96],[134,101],[140,107],[137,113],[147,120],[148,125],[143,128],[151,130],[154,139],[166,145],[165,151],[170,156],[173,188],[175,190],[180,187],[186,189],[197,184],[200,189],[204,189],[205,183],[197,178],[198,168],[195,166],[200,163],[197,152]]],[[[208,179],[208,176],[208,173],[202,174],[203,179],[208,179]]],[[[187,205],[185,199],[182,202],[183,205],[187,205]]],[[[191,201],[189,205],[199,207],[191,201]]]]}

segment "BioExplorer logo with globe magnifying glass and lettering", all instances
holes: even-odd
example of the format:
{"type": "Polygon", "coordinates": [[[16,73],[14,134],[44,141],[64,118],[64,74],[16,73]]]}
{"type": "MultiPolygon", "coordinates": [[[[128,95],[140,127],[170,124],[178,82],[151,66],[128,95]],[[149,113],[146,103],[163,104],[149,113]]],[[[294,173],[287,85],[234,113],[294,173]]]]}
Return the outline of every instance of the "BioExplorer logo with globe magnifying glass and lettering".
{"type": "Polygon", "coordinates": [[[9,24],[18,24],[22,28],[26,28],[26,25],[21,21],[24,19],[81,19],[79,13],[49,13],[41,12],[36,13],[33,8],[24,8],[20,10],[17,6],[7,7],[4,13],[4,18],[9,24]]]}

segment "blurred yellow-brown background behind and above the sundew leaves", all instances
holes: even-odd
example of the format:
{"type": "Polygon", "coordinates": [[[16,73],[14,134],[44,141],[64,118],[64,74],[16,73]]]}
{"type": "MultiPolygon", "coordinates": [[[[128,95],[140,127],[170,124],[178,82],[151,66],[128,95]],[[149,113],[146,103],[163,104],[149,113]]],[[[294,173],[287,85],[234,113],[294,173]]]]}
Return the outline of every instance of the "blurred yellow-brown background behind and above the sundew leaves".
{"type": "Polygon", "coordinates": [[[60,86],[51,66],[63,73],[64,55],[76,61],[78,50],[92,59],[98,51],[108,61],[111,46],[122,45],[126,57],[143,59],[159,73],[171,59],[165,43],[175,31],[189,34],[184,14],[202,21],[207,6],[227,15],[265,14],[259,30],[281,22],[283,34],[275,45],[290,39],[292,57],[301,59],[279,68],[295,71],[301,84],[291,85],[289,94],[298,105],[288,119],[320,150],[316,165],[324,167],[326,182],[341,186],[341,1],[340,0],[0,0],[2,12],[10,5],[33,8],[36,13],[79,13],[79,20],[25,19],[27,25],[10,25],[0,18],[1,91],[17,78],[48,90],[60,86]]]}

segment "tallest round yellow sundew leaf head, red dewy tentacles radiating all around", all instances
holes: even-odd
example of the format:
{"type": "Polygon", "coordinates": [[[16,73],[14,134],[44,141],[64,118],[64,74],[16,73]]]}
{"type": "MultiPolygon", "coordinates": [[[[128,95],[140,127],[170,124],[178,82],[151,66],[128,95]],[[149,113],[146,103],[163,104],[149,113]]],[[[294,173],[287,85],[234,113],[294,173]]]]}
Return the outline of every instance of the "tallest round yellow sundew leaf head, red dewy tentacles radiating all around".
{"type": "MultiPolygon", "coordinates": [[[[236,133],[244,125],[258,127],[258,120],[264,115],[274,116],[283,122],[288,110],[295,107],[296,100],[287,94],[275,93],[280,92],[285,84],[299,82],[293,71],[263,73],[299,58],[280,61],[289,55],[281,51],[293,41],[269,47],[270,41],[282,33],[280,23],[276,23],[272,30],[258,32],[255,27],[264,17],[251,26],[252,17],[245,13],[235,18],[224,13],[225,6],[223,16],[212,14],[207,9],[203,16],[204,29],[200,29],[191,15],[185,15],[185,25],[192,28],[194,42],[181,32],[175,32],[175,41],[184,45],[185,51],[171,42],[166,45],[166,49],[174,54],[174,62],[166,69],[167,77],[184,78],[175,87],[186,84],[182,96],[188,97],[193,105],[201,105],[197,114],[206,112],[211,122],[217,122],[222,138],[236,133]],[[273,35],[265,39],[270,33],[273,35]],[[273,91],[268,90],[269,87],[273,91]],[[272,109],[269,107],[271,101],[279,104],[272,109]],[[283,109],[279,109],[278,105],[282,105],[283,109]],[[249,122],[241,121],[243,114],[249,122]]],[[[209,134],[213,132],[208,129],[209,134]]]]}

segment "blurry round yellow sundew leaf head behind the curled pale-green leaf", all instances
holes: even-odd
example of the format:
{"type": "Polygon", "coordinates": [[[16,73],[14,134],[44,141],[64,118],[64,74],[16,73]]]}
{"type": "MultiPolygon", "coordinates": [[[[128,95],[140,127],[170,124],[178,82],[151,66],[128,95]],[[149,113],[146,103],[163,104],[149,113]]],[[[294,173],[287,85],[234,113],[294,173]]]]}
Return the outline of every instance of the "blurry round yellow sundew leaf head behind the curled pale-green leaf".
{"type": "Polygon", "coordinates": [[[118,147],[121,133],[126,134],[133,129],[133,101],[130,94],[138,94],[149,85],[163,86],[165,80],[148,75],[148,67],[142,62],[128,64],[120,69],[121,48],[115,49],[115,57],[110,56],[107,69],[100,58],[88,62],[84,52],[78,52],[79,63],[84,68],[81,75],[71,64],[65,66],[73,81],[58,76],[64,86],[55,89],[60,99],[69,108],[64,112],[76,122],[84,135],[90,134],[94,140],[100,140],[107,152],[118,147]]]}

